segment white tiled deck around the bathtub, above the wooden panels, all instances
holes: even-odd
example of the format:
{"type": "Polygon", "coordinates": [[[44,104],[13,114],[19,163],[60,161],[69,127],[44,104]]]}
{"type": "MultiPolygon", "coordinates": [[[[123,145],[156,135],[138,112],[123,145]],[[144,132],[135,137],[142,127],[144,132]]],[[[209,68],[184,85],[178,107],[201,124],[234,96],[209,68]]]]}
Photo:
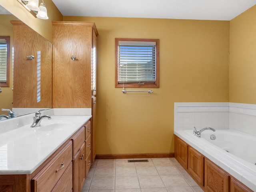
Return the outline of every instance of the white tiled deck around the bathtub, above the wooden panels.
{"type": "MultiPolygon", "coordinates": [[[[205,130],[202,133],[202,137],[207,137],[207,135],[210,136],[210,134],[216,134],[216,138],[218,138],[219,135],[217,133],[238,134],[244,137],[245,140],[252,138],[250,135],[236,130],[217,130],[216,132],[205,130]]],[[[197,138],[194,136],[192,130],[174,130],[174,134],[195,148],[205,157],[210,159],[216,165],[220,166],[220,168],[228,172],[234,178],[242,182],[244,185],[248,186],[253,191],[256,191],[256,165],[242,160],[241,158],[238,158],[225,150],[222,150],[204,138],[197,138]]],[[[253,139],[256,143],[256,139],[253,139]]],[[[235,140],[235,142],[237,141],[235,140]]],[[[241,142],[243,142],[242,138],[241,142]]],[[[246,144],[244,145],[246,146],[246,144]]],[[[255,145],[256,144],[254,144],[254,146],[255,145]]]]}

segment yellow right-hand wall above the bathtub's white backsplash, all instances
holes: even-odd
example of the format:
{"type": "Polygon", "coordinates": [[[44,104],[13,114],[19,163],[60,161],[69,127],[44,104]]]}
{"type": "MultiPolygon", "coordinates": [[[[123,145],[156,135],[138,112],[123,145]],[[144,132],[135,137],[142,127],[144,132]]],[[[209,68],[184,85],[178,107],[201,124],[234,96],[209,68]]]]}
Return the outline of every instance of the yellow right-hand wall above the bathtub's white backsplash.
{"type": "Polygon", "coordinates": [[[230,21],[229,101],[256,104],[256,6],[230,21]]]}

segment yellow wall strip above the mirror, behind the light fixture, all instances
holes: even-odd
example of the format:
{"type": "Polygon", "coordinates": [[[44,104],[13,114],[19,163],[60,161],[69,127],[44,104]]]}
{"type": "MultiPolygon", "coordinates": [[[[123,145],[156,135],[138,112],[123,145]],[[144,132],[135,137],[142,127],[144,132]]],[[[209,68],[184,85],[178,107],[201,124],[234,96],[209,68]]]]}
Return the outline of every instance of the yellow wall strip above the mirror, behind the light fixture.
{"type": "Polygon", "coordinates": [[[49,19],[35,18],[17,0],[0,0],[0,5],[6,8],[14,16],[22,20],[30,28],[34,29],[48,41],[52,42],[52,21],[62,21],[62,14],[56,8],[52,0],[44,0],[49,19]]]}

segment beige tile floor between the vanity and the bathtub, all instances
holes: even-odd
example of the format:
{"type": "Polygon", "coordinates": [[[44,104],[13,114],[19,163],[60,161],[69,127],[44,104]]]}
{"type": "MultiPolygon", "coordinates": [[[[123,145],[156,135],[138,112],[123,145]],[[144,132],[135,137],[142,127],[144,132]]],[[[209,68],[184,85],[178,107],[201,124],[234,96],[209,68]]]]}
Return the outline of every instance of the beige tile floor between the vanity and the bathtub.
{"type": "Polygon", "coordinates": [[[175,158],[95,160],[82,192],[203,192],[175,158]]]}

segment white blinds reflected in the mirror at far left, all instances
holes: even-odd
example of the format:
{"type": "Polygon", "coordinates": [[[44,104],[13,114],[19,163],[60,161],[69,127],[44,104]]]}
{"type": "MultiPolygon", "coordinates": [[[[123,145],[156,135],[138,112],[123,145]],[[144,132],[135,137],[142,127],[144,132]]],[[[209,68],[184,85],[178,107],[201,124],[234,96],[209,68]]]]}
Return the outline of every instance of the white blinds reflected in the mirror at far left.
{"type": "Polygon", "coordinates": [[[6,82],[7,77],[7,42],[0,39],[0,82],[6,82]]]}

